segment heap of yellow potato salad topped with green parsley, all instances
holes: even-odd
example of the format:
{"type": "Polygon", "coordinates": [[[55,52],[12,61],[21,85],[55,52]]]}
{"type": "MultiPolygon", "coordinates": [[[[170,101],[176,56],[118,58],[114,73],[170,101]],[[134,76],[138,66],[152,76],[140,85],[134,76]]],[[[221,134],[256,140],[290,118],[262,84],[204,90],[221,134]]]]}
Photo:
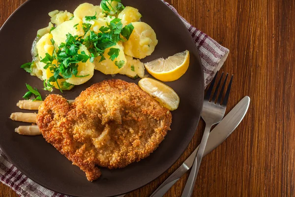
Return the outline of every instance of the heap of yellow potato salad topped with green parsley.
{"type": "Polygon", "coordinates": [[[44,81],[44,90],[70,90],[87,82],[94,69],[104,74],[143,78],[140,61],[158,43],[153,29],[141,22],[138,9],[120,0],[83,3],[73,13],[54,10],[51,22],[33,41],[32,62],[21,67],[44,81]]]}

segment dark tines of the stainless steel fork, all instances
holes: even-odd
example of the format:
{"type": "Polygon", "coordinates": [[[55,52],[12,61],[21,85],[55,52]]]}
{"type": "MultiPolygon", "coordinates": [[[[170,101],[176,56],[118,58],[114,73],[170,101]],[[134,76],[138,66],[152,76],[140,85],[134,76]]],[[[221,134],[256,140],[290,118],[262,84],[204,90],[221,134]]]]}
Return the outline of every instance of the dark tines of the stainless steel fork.
{"type": "Polygon", "coordinates": [[[214,76],[214,78],[213,78],[213,80],[212,80],[212,82],[210,84],[210,87],[207,90],[207,93],[206,93],[206,96],[205,96],[204,100],[207,100],[209,102],[213,101],[216,104],[226,106],[227,102],[228,102],[228,99],[229,99],[230,92],[231,92],[231,87],[232,87],[232,82],[233,82],[233,76],[234,75],[232,75],[232,77],[231,77],[231,80],[230,80],[229,86],[227,88],[226,94],[224,96],[223,101],[221,102],[222,95],[223,95],[224,88],[225,88],[225,84],[226,84],[229,73],[227,73],[226,76],[225,76],[225,80],[223,82],[221,91],[220,91],[218,99],[216,101],[216,97],[217,97],[217,94],[218,94],[218,90],[219,90],[219,87],[220,87],[224,72],[222,72],[221,77],[220,77],[220,79],[219,79],[219,81],[217,83],[216,89],[215,89],[215,91],[213,93],[212,99],[210,99],[211,94],[212,94],[212,90],[213,90],[213,87],[214,87],[214,84],[215,84],[215,81],[216,81],[216,78],[217,78],[217,74],[218,74],[218,72],[215,74],[215,76],[214,76]]]}

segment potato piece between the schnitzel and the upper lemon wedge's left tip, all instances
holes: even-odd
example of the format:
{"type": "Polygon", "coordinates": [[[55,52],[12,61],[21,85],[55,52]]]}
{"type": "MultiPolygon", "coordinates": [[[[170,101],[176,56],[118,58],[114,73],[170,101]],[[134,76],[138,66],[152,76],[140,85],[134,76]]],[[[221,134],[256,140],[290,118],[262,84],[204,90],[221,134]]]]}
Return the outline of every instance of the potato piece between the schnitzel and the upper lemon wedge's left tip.
{"type": "Polygon", "coordinates": [[[125,56],[127,64],[119,72],[119,74],[127,75],[128,77],[134,78],[138,75],[143,78],[145,75],[145,66],[140,60],[133,59],[130,56],[125,56]]]}

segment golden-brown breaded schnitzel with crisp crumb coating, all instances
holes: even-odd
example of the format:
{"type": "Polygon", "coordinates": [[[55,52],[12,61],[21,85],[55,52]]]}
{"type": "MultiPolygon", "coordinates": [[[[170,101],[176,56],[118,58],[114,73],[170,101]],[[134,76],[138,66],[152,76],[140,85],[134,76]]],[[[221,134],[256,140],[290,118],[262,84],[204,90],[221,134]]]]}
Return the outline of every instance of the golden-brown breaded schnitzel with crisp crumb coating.
{"type": "Polygon", "coordinates": [[[119,79],[93,84],[72,104],[49,95],[37,125],[47,142],[79,166],[89,181],[98,166],[124,167],[152,153],[170,130],[172,115],[134,83],[119,79]]]}

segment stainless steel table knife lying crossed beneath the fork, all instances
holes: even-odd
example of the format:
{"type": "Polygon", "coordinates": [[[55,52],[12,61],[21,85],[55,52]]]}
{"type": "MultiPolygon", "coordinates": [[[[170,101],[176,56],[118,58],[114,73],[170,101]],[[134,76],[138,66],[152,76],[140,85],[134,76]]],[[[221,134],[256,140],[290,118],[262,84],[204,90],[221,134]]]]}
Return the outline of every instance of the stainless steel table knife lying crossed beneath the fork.
{"type": "MultiPolygon", "coordinates": [[[[240,124],[249,108],[250,98],[248,96],[241,99],[236,106],[222,119],[222,121],[210,132],[204,156],[219,146],[226,138],[232,134],[240,124]]],[[[199,146],[194,152],[177,168],[165,181],[152,193],[150,197],[163,197],[164,194],[185,174],[194,163],[199,146]]]]}

